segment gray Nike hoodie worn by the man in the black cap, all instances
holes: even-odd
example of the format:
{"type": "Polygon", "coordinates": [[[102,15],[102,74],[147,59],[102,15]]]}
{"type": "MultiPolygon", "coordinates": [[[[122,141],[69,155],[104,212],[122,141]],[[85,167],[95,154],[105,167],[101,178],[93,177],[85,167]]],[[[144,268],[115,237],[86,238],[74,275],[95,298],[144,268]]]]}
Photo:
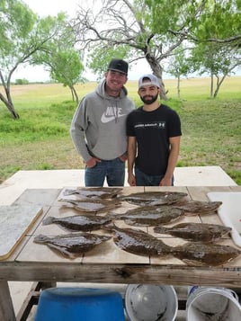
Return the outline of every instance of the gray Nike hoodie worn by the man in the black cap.
{"type": "Polygon", "coordinates": [[[104,90],[105,79],[78,104],[70,135],[80,156],[87,162],[92,156],[111,160],[127,151],[126,118],[135,109],[122,87],[119,97],[104,90]]]}

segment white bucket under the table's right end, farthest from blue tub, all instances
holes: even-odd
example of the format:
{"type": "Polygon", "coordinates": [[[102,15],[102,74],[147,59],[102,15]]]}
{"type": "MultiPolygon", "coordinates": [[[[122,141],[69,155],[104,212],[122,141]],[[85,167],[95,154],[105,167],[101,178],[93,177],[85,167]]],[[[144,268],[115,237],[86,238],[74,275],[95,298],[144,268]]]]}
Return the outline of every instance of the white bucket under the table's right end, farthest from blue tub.
{"type": "Polygon", "coordinates": [[[225,288],[192,287],[186,309],[187,321],[241,320],[237,293],[225,288]]]}

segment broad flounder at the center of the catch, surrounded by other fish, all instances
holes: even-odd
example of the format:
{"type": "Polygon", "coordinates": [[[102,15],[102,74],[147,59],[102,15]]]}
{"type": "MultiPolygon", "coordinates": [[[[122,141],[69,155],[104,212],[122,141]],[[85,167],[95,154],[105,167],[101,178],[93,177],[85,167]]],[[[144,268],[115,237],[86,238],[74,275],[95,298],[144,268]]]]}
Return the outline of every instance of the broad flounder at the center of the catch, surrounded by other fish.
{"type": "Polygon", "coordinates": [[[123,214],[111,214],[109,218],[124,219],[129,225],[151,227],[158,224],[168,224],[181,218],[183,210],[174,209],[167,205],[146,205],[138,209],[128,210],[123,214]]]}

